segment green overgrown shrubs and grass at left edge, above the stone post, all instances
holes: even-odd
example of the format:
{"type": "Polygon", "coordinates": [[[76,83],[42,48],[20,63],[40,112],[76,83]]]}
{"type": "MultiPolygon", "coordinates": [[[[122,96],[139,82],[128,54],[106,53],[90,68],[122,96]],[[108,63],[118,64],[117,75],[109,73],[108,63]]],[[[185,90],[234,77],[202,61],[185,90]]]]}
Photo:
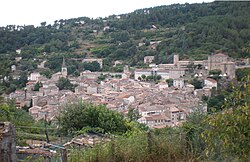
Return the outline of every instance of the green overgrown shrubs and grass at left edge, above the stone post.
{"type": "MultiPolygon", "coordinates": [[[[9,121],[16,128],[17,145],[26,146],[26,140],[46,140],[44,120],[35,121],[23,109],[16,108],[15,101],[5,101],[0,98],[0,121],[9,121]]],[[[47,128],[50,130],[51,140],[56,138],[56,129],[47,123],[47,128]]]]}

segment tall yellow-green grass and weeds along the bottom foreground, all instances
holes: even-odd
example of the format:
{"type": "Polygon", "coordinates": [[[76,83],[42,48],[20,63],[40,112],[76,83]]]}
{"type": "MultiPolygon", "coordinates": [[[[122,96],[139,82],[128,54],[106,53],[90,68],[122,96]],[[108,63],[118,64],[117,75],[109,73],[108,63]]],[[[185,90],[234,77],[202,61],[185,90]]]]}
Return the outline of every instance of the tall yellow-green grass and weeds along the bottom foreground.
{"type": "Polygon", "coordinates": [[[179,130],[133,132],[94,148],[72,152],[72,161],[188,161],[179,130]]]}

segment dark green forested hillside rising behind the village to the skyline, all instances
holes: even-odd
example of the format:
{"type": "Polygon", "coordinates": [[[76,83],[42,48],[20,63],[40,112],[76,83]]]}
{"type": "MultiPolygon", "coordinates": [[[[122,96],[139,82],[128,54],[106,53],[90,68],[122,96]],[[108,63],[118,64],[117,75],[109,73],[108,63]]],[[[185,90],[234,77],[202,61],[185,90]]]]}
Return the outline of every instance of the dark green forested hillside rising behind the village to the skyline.
{"type": "Polygon", "coordinates": [[[102,70],[116,72],[122,66],[113,67],[114,61],[145,66],[147,55],[154,55],[157,64],[171,62],[173,53],[181,59],[201,60],[216,50],[246,58],[250,53],[249,11],[249,2],[186,3],[106,18],[42,22],[39,27],[8,25],[0,28],[0,79],[11,76],[11,65],[17,65],[25,76],[44,60],[48,69],[43,73],[49,76],[60,70],[63,56],[72,75],[86,67],[77,61],[85,57],[103,58],[102,70]],[[15,57],[20,56],[17,62],[15,57]]]}

